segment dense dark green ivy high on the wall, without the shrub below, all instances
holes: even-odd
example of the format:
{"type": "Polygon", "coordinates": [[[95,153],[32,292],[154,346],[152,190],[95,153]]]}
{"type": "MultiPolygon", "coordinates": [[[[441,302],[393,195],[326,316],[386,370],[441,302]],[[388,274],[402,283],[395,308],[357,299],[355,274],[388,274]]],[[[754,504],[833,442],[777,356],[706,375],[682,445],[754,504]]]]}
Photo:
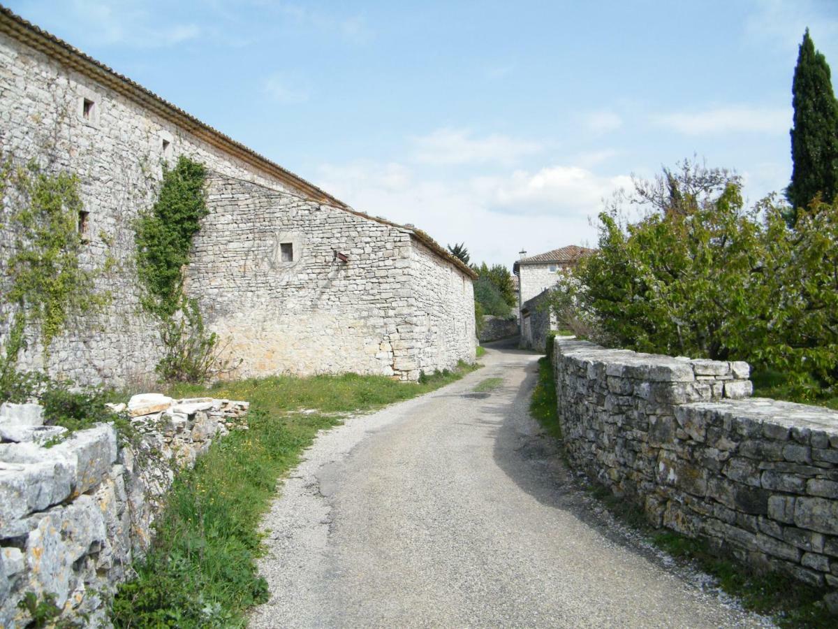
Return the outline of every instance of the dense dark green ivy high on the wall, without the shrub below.
{"type": "Polygon", "coordinates": [[[184,265],[192,238],[207,215],[203,164],[181,156],[163,166],[163,185],[150,211],[137,220],[137,275],[146,289],[143,307],[168,320],[183,307],[184,265]]]}

